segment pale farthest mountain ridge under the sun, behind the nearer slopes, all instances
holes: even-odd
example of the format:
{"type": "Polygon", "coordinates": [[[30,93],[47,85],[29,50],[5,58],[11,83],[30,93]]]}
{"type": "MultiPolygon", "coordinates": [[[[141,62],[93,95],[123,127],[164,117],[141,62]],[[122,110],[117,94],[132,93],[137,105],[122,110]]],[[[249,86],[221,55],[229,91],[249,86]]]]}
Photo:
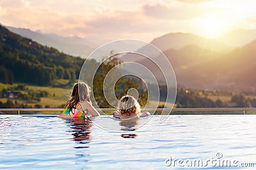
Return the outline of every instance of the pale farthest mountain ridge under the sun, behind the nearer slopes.
{"type": "MultiPolygon", "coordinates": [[[[198,46],[203,50],[211,50],[212,52],[227,53],[232,51],[234,48],[242,47],[247,43],[250,43],[256,39],[256,30],[237,30],[228,33],[227,35],[218,39],[209,39],[195,34],[183,33],[183,32],[172,32],[165,34],[158,38],[153,39],[150,44],[156,46],[162,52],[167,50],[180,50],[185,46],[198,46]]],[[[150,53],[153,57],[157,57],[161,52],[152,50],[152,46],[142,46],[138,53],[150,53]]],[[[123,61],[128,60],[141,60],[143,57],[130,55],[129,57],[123,57],[123,61]]]]}

